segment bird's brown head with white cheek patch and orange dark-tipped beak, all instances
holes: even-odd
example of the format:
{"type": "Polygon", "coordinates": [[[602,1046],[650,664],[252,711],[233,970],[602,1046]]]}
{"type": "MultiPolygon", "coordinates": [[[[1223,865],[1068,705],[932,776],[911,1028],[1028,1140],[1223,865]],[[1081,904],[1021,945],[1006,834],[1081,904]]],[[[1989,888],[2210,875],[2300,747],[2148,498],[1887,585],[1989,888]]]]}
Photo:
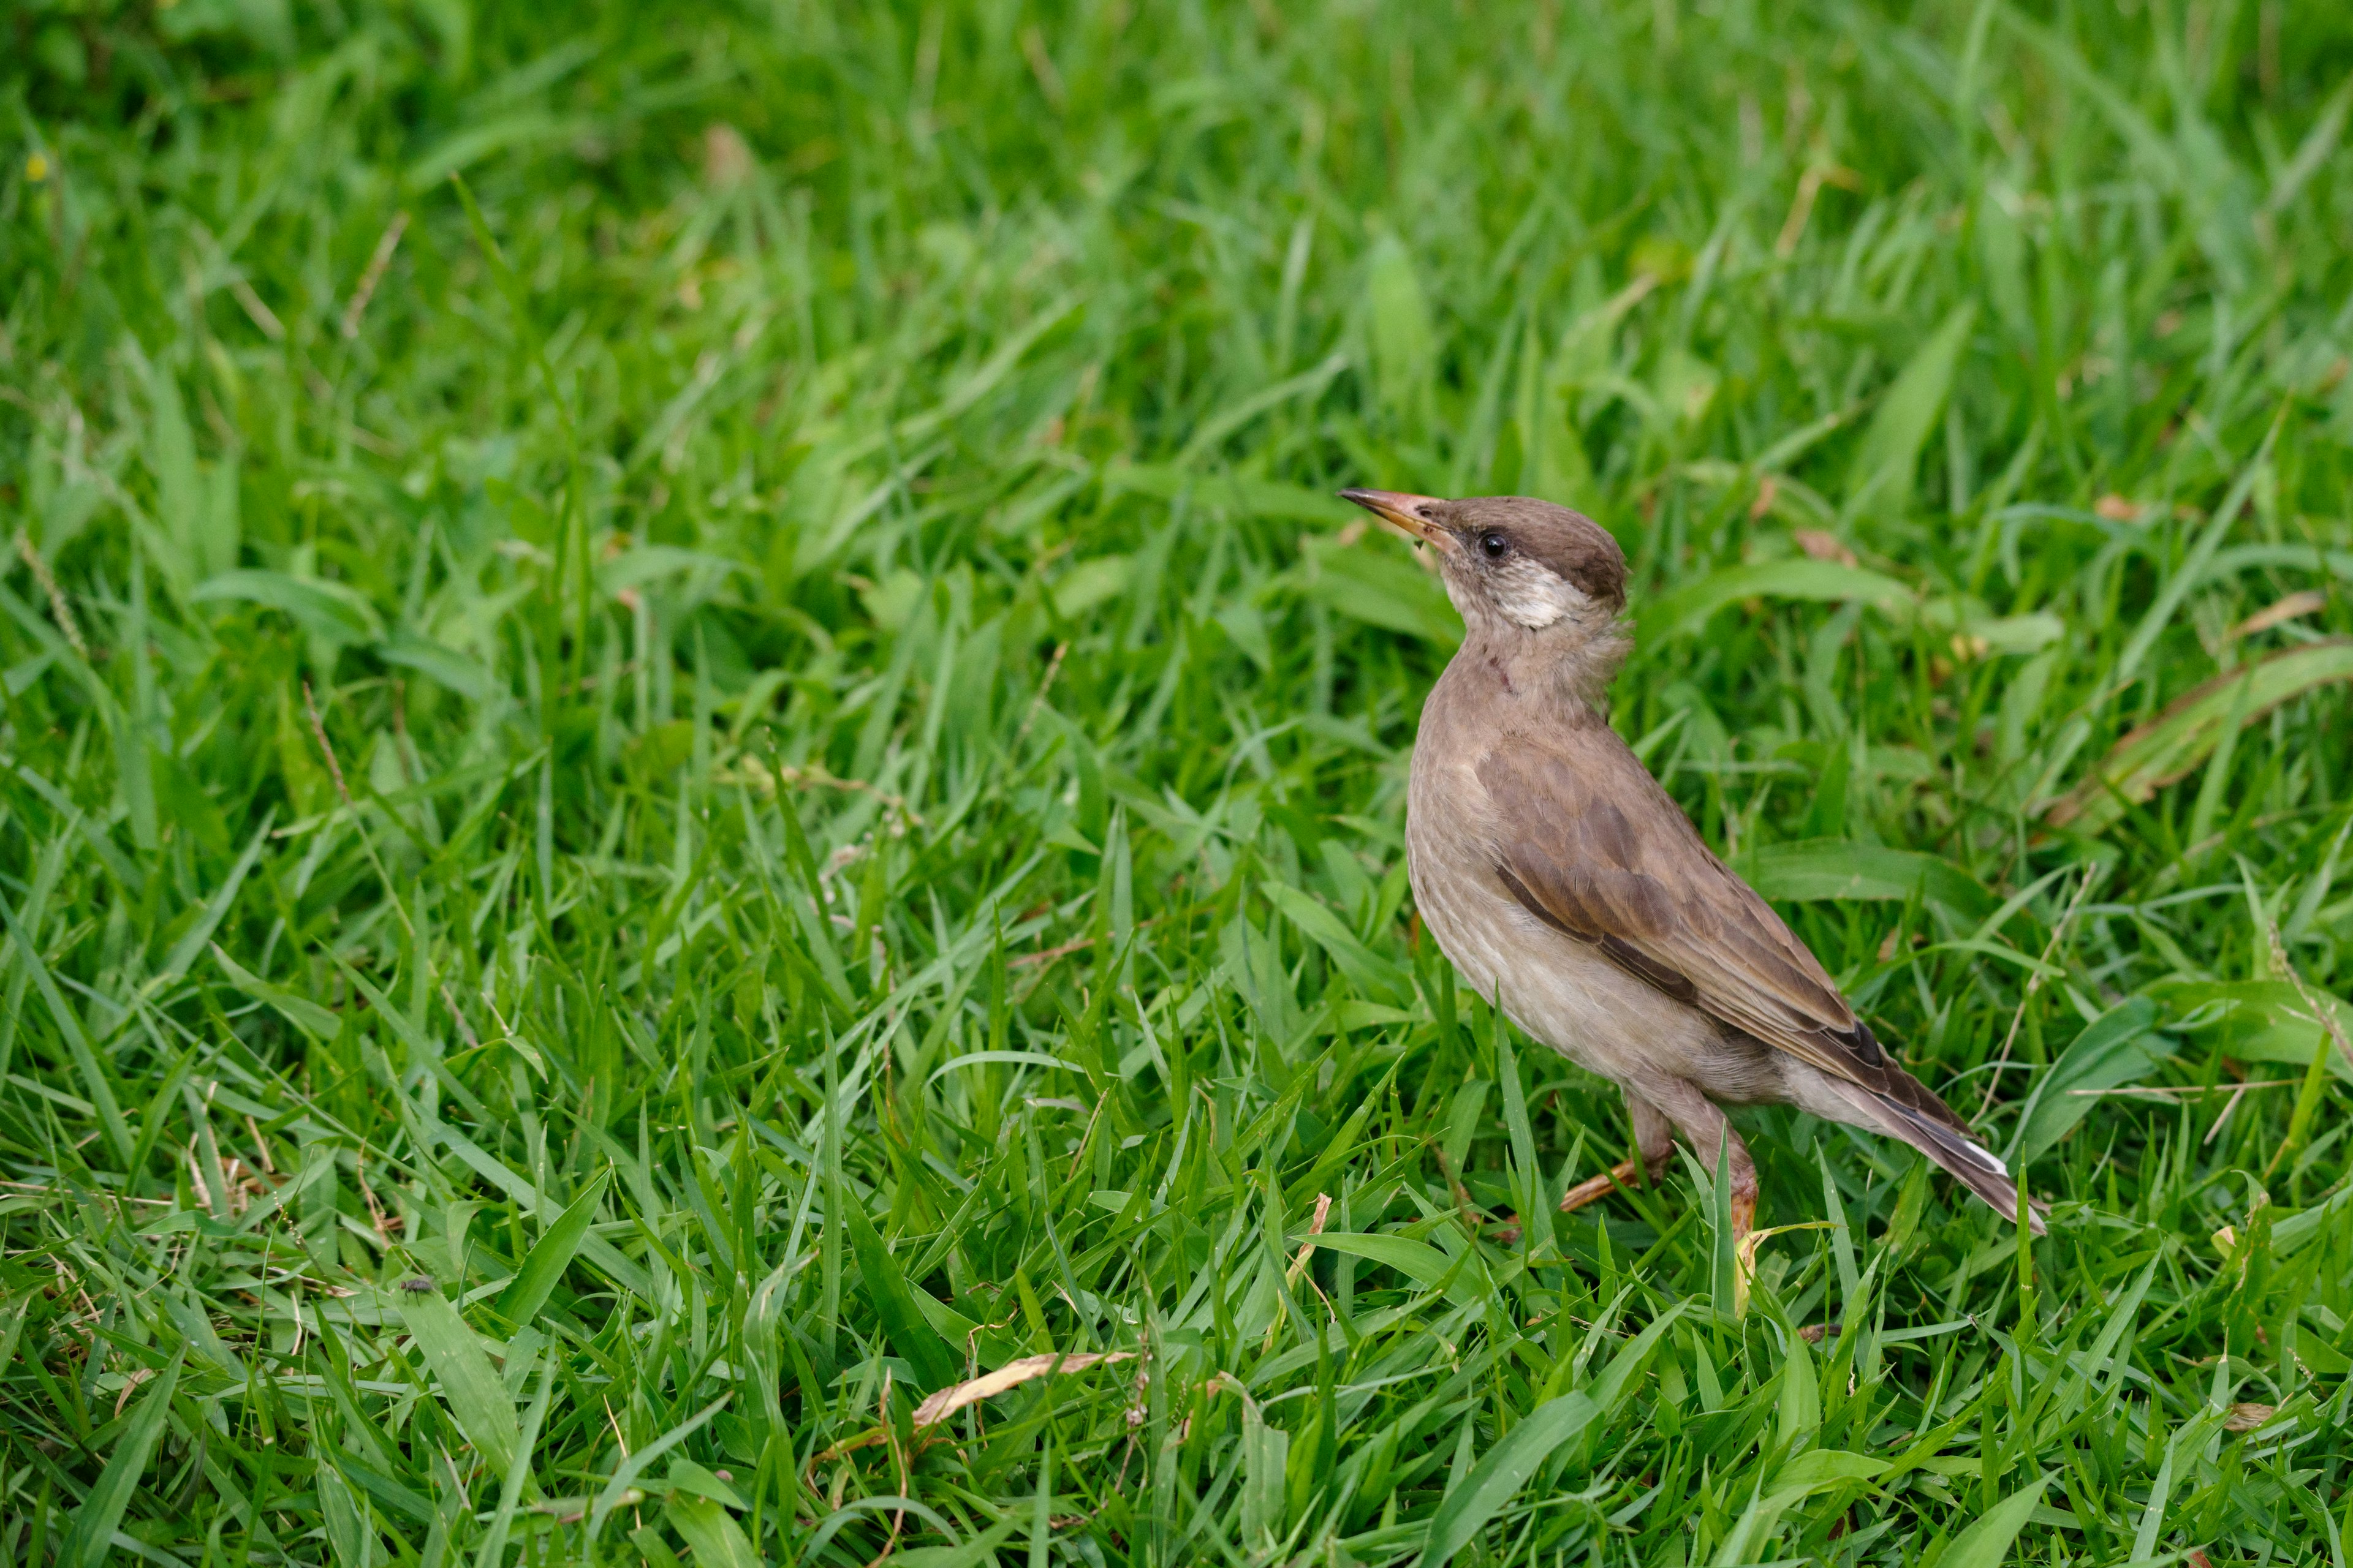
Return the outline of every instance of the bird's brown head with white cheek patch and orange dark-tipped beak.
{"type": "Polygon", "coordinates": [[[1447,597],[1473,637],[1534,639],[1560,654],[1598,642],[1621,651],[1626,555],[1591,517],[1532,496],[1440,501],[1344,489],[1341,498],[1438,555],[1447,597]]]}

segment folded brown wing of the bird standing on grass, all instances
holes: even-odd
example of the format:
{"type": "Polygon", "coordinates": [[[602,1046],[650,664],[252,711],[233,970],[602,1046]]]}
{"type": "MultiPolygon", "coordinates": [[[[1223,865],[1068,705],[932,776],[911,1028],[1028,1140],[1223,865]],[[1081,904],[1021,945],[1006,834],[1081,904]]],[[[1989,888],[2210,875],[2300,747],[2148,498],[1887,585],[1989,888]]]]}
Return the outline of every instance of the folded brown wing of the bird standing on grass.
{"type": "Polygon", "coordinates": [[[1537,919],[1767,1046],[1962,1126],[1607,724],[1513,736],[1478,778],[1494,809],[1494,870],[1537,919]]]}

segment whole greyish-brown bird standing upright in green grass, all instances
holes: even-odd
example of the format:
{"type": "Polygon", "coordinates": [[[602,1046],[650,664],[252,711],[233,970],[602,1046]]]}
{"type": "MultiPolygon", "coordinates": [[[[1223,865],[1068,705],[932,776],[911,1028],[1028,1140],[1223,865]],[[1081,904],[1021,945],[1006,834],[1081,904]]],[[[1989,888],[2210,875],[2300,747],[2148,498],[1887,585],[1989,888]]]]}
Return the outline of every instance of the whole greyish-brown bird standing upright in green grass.
{"type": "MultiPolygon", "coordinates": [[[[1617,541],[1525,496],[1341,496],[1426,543],[1464,616],[1414,743],[1414,905],[1471,990],[1626,1093],[1640,1157],[1560,1206],[1659,1180],[1682,1138],[1729,1171],[1746,1272],[1758,1171],[1720,1107],[1795,1105],[1901,1138],[2014,1215],[2002,1161],[1897,1065],[1609,729],[1609,679],[1633,646],[1617,541]]],[[[2031,1222],[2040,1234],[2040,1206],[2031,1222]]]]}

